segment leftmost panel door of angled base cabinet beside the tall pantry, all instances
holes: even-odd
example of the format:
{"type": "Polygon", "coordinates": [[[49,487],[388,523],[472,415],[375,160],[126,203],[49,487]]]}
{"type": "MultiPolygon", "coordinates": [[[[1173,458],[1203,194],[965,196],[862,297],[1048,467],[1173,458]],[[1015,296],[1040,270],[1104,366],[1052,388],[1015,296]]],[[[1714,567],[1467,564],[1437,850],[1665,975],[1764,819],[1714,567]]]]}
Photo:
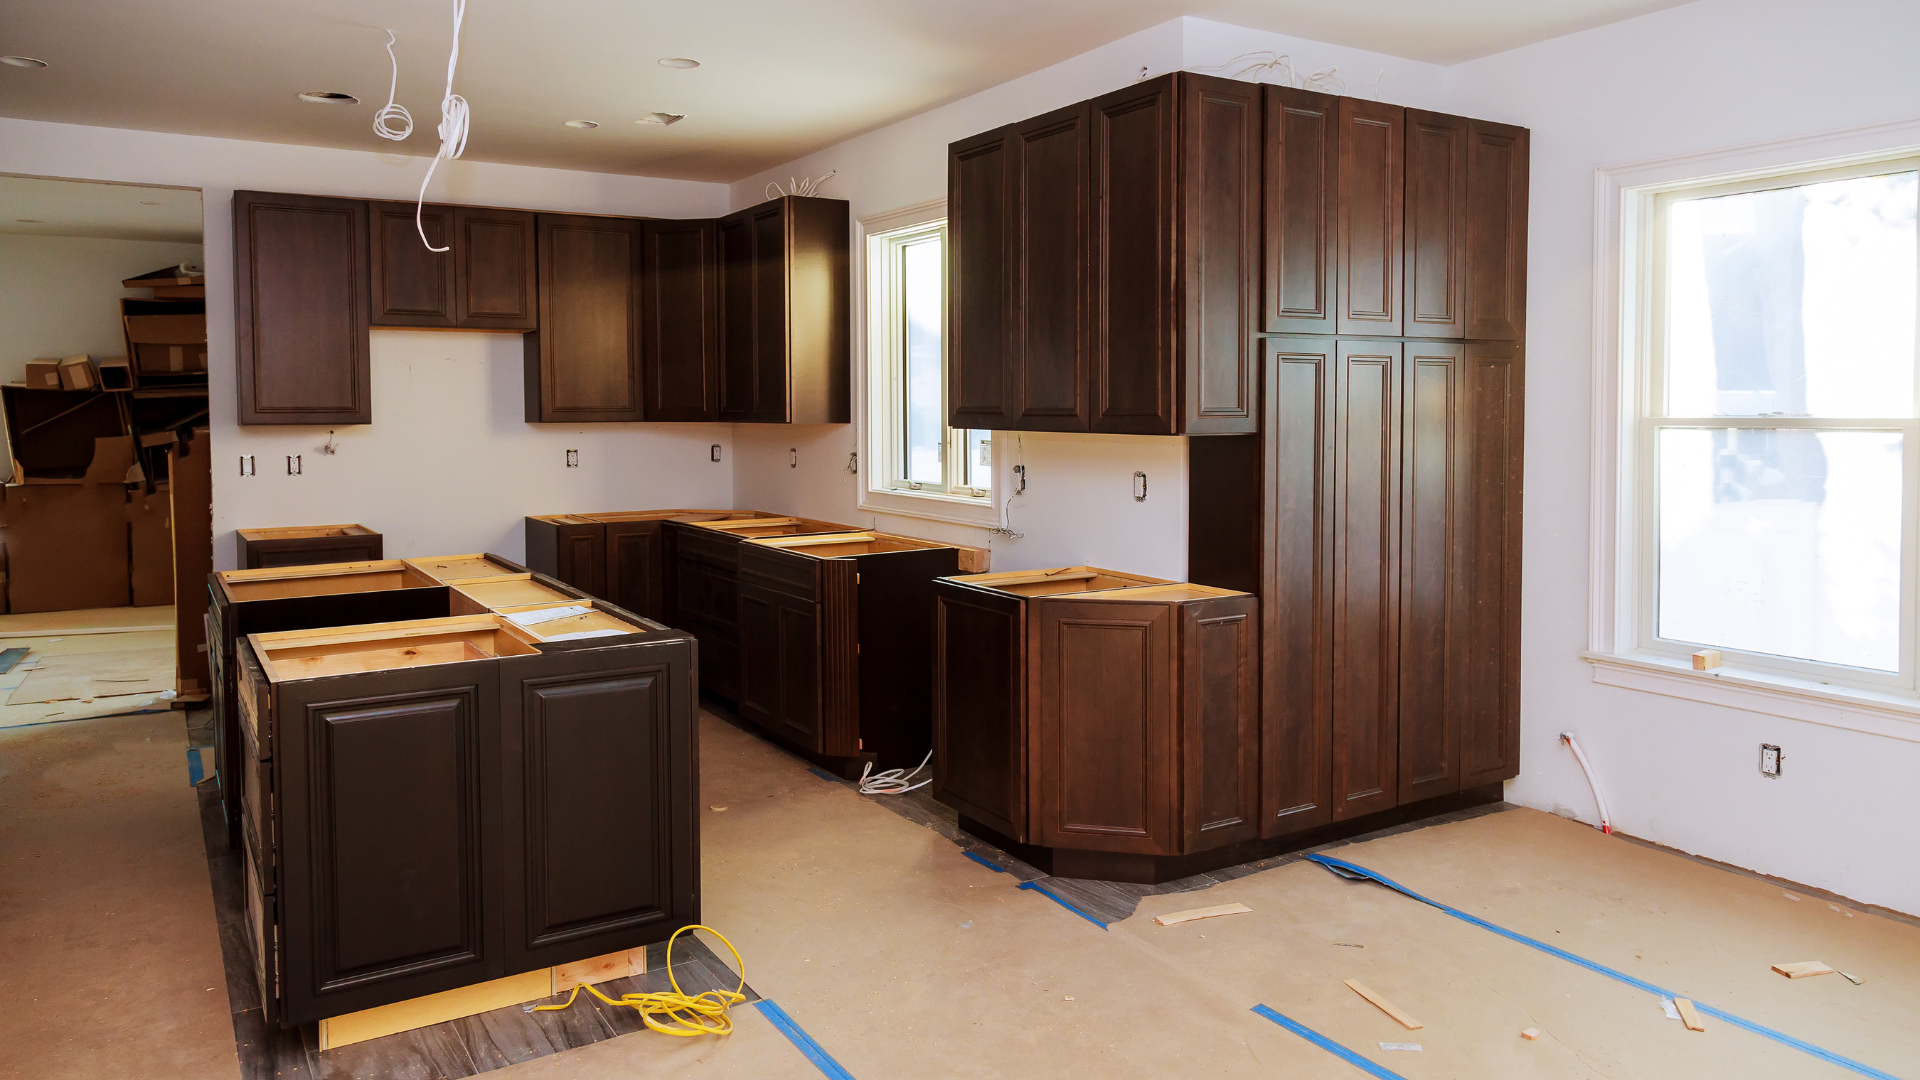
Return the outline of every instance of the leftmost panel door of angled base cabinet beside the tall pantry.
{"type": "Polygon", "coordinates": [[[1027,840],[1027,605],[933,582],[933,798],[1027,840]]]}

